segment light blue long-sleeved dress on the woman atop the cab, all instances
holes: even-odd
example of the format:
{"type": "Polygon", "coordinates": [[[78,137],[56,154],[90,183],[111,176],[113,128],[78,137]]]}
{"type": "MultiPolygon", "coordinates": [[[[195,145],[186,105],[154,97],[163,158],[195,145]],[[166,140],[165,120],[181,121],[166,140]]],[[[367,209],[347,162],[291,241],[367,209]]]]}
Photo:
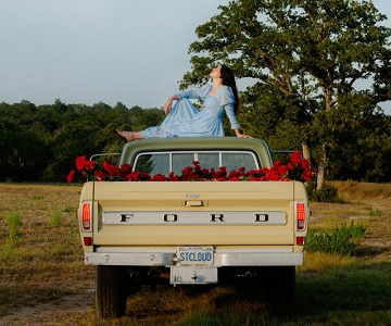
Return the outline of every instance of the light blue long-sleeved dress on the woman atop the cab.
{"type": "Polygon", "coordinates": [[[224,136],[223,117],[227,114],[232,129],[240,128],[235,115],[235,96],[228,86],[222,86],[210,96],[212,85],[177,93],[177,102],[160,126],[140,131],[143,138],[224,136]],[[203,100],[200,111],[189,101],[203,100]]]}

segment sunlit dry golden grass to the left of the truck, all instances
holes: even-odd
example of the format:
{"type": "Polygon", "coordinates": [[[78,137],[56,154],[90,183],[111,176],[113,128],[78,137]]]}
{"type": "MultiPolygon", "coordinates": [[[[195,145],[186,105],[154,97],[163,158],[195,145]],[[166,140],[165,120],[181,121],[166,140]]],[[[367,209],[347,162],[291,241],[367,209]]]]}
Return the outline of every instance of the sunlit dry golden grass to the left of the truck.
{"type": "Polygon", "coordinates": [[[66,296],[91,297],[92,268],[84,265],[75,214],[79,190],[0,185],[0,316],[66,296]],[[12,214],[21,222],[16,238],[9,236],[12,214]]]}

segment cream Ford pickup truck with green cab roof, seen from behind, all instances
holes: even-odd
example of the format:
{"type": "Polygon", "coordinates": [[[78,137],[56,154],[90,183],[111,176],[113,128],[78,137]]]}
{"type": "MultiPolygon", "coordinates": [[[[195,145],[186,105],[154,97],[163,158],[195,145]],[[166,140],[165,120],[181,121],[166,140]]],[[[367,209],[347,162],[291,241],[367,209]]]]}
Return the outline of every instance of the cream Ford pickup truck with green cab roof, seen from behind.
{"type": "MultiPolygon", "coordinates": [[[[227,171],[273,166],[264,141],[230,137],[128,142],[119,165],[168,175],[193,161],[227,171]]],[[[161,283],[250,283],[265,300],[294,298],[308,221],[301,181],[88,181],[78,217],[100,318],[125,314],[128,294],[161,283]]]]}

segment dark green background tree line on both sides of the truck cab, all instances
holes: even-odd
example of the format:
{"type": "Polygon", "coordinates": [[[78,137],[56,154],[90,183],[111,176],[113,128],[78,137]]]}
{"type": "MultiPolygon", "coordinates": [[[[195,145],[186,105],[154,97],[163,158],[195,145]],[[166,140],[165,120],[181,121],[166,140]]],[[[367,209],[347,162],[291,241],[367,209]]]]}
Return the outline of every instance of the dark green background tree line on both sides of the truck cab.
{"type": "MultiPolygon", "coordinates": [[[[247,101],[252,99],[243,96],[242,101],[250,108],[247,101]]],[[[260,116],[256,102],[252,108],[243,109],[239,121],[245,133],[264,139],[274,150],[301,150],[302,141],[315,137],[294,111],[281,117],[275,103],[260,116]]],[[[78,155],[121,152],[125,141],[115,128],[140,130],[159,125],[164,117],[163,110],[128,109],[119,102],[113,108],[102,102],[88,106],[60,100],[47,105],[2,102],[0,181],[65,181],[78,155]]],[[[391,116],[375,109],[340,110],[318,124],[325,128],[333,125],[327,179],[391,181],[391,116]]],[[[225,129],[227,136],[235,136],[227,120],[225,129]]]]}

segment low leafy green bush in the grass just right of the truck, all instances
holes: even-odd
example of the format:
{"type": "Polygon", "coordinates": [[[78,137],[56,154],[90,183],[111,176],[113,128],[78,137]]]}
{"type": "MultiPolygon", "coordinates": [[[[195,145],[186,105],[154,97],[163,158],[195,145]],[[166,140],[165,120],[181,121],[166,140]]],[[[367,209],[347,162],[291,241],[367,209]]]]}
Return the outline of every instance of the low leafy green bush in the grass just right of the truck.
{"type": "Polygon", "coordinates": [[[320,251],[351,255],[353,249],[357,246],[354,239],[363,238],[365,231],[366,226],[363,224],[355,225],[353,221],[349,227],[343,224],[342,227],[335,228],[331,234],[310,230],[305,242],[305,250],[308,252],[320,251]]]}

